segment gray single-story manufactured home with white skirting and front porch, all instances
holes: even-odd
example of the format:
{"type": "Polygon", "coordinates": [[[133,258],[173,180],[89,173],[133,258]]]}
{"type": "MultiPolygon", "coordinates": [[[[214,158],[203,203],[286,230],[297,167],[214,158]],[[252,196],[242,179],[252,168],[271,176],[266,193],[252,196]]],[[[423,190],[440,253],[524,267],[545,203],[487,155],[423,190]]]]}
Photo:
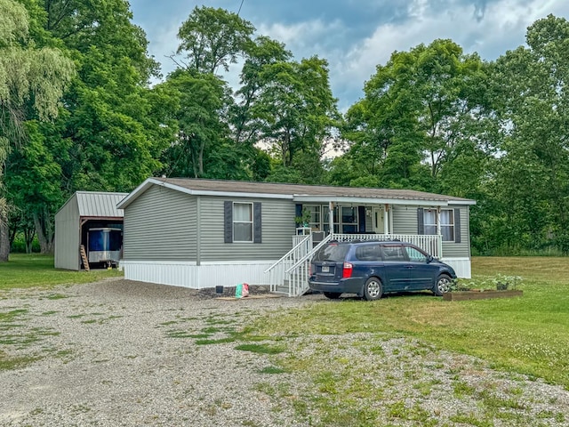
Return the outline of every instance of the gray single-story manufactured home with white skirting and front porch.
{"type": "Polygon", "coordinates": [[[125,278],[204,288],[308,284],[309,259],[336,240],[397,239],[470,277],[469,206],[407,189],[148,178],[124,210],[125,278]]]}

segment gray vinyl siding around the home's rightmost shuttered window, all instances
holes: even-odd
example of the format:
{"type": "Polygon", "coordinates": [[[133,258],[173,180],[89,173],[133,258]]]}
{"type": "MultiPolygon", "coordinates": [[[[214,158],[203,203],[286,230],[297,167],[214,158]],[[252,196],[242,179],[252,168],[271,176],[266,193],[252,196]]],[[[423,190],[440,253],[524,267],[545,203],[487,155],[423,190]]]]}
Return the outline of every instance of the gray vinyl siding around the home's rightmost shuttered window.
{"type": "MultiPolygon", "coordinates": [[[[425,209],[431,206],[423,206],[425,209]]],[[[443,209],[459,208],[461,211],[461,243],[443,242],[443,256],[469,257],[470,256],[470,233],[469,233],[469,206],[449,205],[443,209]]],[[[417,206],[392,206],[393,234],[417,234],[417,206]]]]}

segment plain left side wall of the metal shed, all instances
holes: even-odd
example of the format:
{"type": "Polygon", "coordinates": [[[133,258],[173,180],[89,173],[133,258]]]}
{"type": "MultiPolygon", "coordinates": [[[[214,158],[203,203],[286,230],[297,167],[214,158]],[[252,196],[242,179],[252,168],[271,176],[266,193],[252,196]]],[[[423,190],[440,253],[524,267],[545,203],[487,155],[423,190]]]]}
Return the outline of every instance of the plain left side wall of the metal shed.
{"type": "Polygon", "coordinates": [[[71,197],[55,215],[55,268],[79,270],[79,209],[71,197]]]}

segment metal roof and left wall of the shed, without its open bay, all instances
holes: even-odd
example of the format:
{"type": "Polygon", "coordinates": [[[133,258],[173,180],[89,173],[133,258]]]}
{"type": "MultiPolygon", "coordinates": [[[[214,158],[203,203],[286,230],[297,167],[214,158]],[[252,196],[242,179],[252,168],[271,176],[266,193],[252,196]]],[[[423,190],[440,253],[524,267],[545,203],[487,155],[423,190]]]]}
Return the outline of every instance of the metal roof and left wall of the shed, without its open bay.
{"type": "Polygon", "coordinates": [[[55,268],[81,270],[80,247],[87,246],[89,229],[120,227],[123,209],[116,205],[128,193],[76,191],[55,214],[55,268]]]}

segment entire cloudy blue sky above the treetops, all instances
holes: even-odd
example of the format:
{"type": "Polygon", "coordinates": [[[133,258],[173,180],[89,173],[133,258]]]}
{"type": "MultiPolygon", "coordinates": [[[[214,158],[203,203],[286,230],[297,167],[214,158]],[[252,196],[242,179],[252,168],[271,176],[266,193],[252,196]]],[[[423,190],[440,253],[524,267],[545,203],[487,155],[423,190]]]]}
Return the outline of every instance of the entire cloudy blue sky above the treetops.
{"type": "MultiPolygon", "coordinates": [[[[258,35],[286,45],[297,60],[328,60],[333,94],[345,111],[394,51],[451,38],[465,52],[495,60],[525,43],[533,21],[552,13],[569,19],[567,0],[131,0],[134,22],[148,36],[148,51],[165,74],[178,47],[182,21],[196,6],[238,12],[258,35]]],[[[225,78],[238,82],[240,66],[225,78]]]]}

